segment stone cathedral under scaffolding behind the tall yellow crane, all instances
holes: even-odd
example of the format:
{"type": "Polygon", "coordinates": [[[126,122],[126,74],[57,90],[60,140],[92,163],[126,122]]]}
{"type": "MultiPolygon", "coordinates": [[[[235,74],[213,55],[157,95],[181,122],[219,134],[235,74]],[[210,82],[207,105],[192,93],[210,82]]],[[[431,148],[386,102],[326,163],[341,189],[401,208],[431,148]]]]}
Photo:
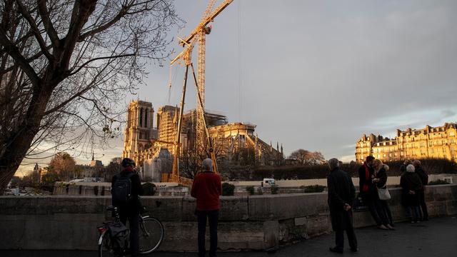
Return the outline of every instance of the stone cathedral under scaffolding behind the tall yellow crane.
{"type": "MultiPolygon", "coordinates": [[[[196,110],[184,113],[180,152],[175,153],[179,107],[159,107],[154,127],[152,104],[146,101],[131,101],[127,111],[123,158],[134,159],[138,166],[144,168],[144,176],[154,178],[154,181],[158,182],[157,180],[164,176],[158,176],[157,172],[169,173],[169,163],[173,156],[179,154],[181,157],[196,151],[196,115],[196,110]],[[158,160],[160,165],[157,164],[158,160]],[[154,166],[156,164],[157,167],[154,166]]],[[[276,143],[274,148],[271,142],[268,144],[262,141],[255,133],[255,125],[229,123],[226,116],[215,111],[206,111],[205,119],[218,162],[241,162],[259,166],[276,166],[283,163],[282,145],[279,148],[279,143],[276,143]]]]}

